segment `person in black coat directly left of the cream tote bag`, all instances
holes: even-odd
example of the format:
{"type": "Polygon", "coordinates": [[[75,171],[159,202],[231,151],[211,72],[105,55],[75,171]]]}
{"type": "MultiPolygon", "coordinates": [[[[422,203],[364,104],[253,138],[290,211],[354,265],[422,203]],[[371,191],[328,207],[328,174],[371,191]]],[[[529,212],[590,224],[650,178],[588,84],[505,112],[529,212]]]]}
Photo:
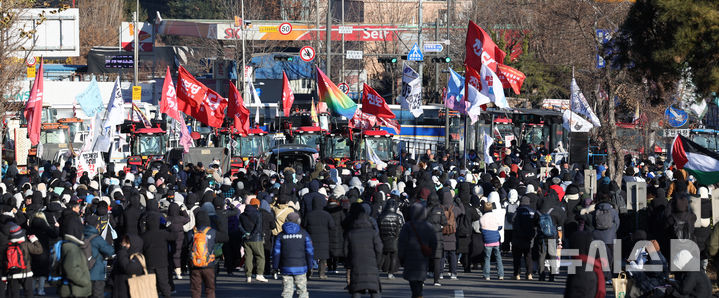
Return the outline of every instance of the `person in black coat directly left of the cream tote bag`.
{"type": "MultiPolygon", "coordinates": [[[[125,235],[121,241],[121,248],[115,257],[115,265],[112,266],[113,298],[130,298],[130,289],[127,279],[133,275],[142,275],[142,265],[137,258],[130,257],[133,254],[142,254],[142,238],[136,234],[125,235]]],[[[147,261],[147,257],[145,258],[147,261]]]]}

